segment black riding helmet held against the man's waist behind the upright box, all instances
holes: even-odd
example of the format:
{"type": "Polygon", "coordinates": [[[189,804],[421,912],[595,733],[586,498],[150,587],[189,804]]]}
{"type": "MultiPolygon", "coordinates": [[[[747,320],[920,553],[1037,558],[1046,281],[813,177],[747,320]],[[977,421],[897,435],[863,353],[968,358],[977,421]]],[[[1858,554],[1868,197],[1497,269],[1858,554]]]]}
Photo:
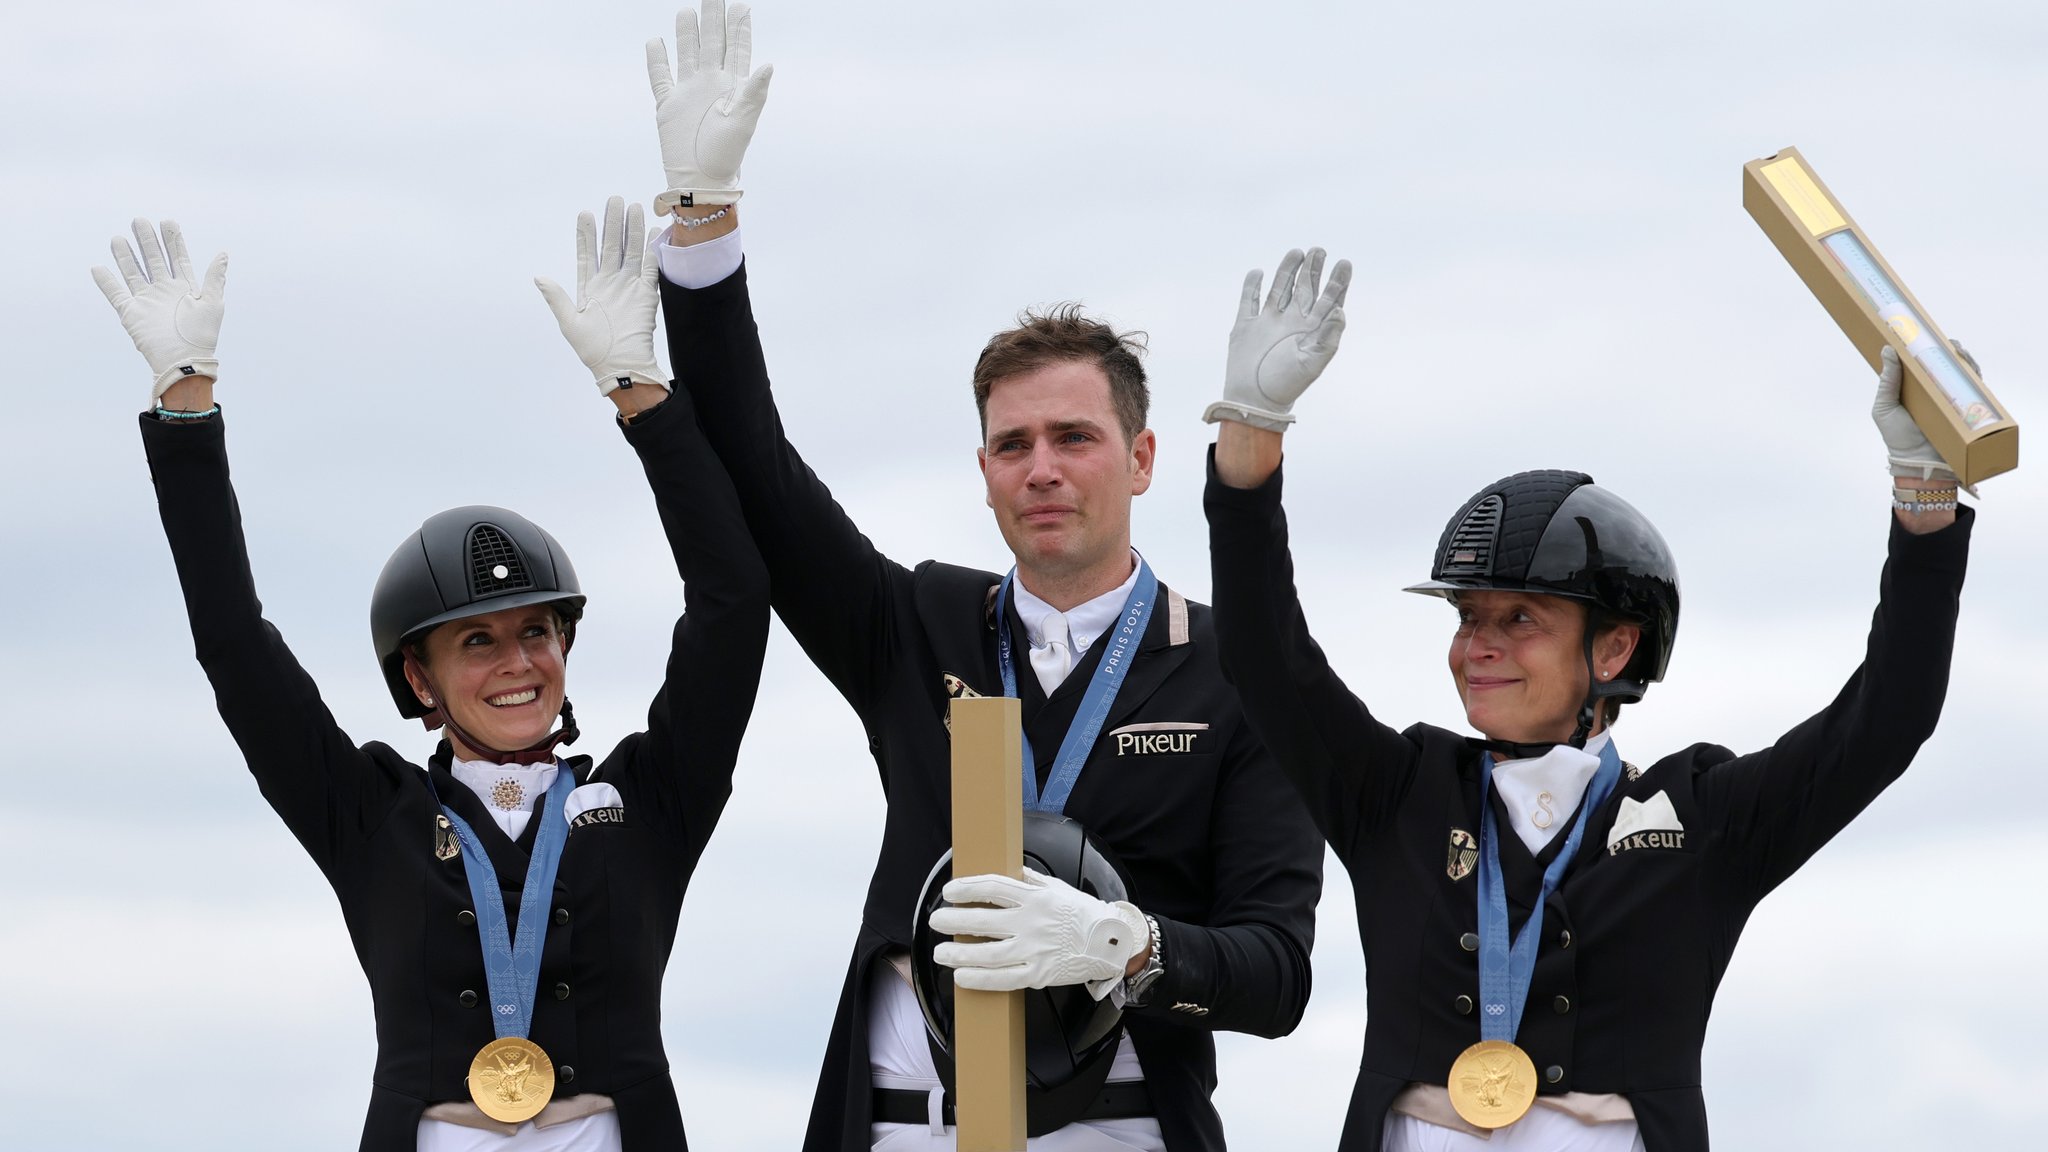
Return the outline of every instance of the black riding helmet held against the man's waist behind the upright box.
{"type": "MultiPolygon", "coordinates": [[[[1122,865],[1081,824],[1051,812],[1024,814],[1024,867],[1059,877],[1098,900],[1128,900],[1122,865]]],[[[911,924],[911,976],[932,1039],[940,1080],[952,1088],[952,970],[932,949],[952,937],[932,931],[932,912],[946,906],[940,890],[952,879],[948,851],[924,879],[911,924]]],[[[1081,1117],[1110,1078],[1122,1009],[1096,1000],[1085,984],[1024,992],[1026,1134],[1044,1136],[1081,1117]]]]}

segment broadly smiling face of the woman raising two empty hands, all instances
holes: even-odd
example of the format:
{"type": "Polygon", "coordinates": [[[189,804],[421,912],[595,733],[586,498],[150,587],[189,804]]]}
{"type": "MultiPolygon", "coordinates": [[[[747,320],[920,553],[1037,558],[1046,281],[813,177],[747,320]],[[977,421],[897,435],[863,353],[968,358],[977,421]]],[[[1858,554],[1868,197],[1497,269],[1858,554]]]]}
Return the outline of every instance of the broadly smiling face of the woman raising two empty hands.
{"type": "MultiPolygon", "coordinates": [[[[438,699],[465,732],[492,748],[530,748],[555,730],[567,676],[561,619],[551,605],[526,605],[459,619],[420,644],[426,676],[406,678],[422,703],[438,699]],[[428,685],[432,681],[432,685],[428,685]]],[[[485,758],[451,734],[463,760],[485,758]]]]}

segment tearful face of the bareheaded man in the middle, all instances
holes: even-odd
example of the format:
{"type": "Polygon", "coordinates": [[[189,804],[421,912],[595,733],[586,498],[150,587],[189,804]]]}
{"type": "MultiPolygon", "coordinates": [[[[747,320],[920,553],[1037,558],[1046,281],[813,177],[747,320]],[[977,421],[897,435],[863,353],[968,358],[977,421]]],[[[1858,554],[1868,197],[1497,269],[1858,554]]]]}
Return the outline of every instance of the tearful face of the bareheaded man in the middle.
{"type": "Polygon", "coordinates": [[[1038,580],[1124,564],[1130,498],[1151,488],[1151,428],[1130,443],[1110,406],[1110,379],[1061,361],[989,387],[977,453],[995,527],[1038,580]]]}

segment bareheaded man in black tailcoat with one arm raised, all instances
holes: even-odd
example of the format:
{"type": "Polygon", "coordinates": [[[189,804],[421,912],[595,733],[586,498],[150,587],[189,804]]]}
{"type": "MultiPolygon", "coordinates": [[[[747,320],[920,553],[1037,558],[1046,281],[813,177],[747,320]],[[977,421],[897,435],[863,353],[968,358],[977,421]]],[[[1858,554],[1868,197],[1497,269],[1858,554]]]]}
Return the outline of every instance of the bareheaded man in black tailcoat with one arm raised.
{"type": "MultiPolygon", "coordinates": [[[[649,45],[670,176],[655,203],[676,213],[659,246],[670,348],[739,492],[772,603],[860,713],[889,797],[805,1148],[864,1150],[881,1140],[950,1148],[942,1109],[928,1119],[920,1105],[922,1123],[870,1123],[883,1119],[874,1109],[891,1088],[938,1088],[901,972],[909,910],[950,840],[948,699],[999,695],[1010,678],[1024,703],[1032,783],[1053,783],[1083,697],[1096,699],[1083,689],[1110,648],[1096,640],[1108,637],[1130,586],[1149,574],[1130,547],[1130,498],[1151,482],[1155,445],[1145,428],[1145,373],[1126,338],[1071,310],[995,336],[975,396],[987,433],[987,500],[1016,553],[1014,586],[995,572],[938,562],[905,568],[881,556],[782,437],[768,389],[735,215],[739,154],[768,76],[750,74],[748,23],[735,8],[727,41],[717,0],[702,25],[686,12],[676,74],[666,51],[649,45]],[[1030,664],[1016,660],[1010,676],[997,658],[1004,635],[1030,664]]],[[[1026,931],[1006,949],[1006,965],[958,968],[963,986],[1087,982],[1098,994],[1126,996],[1128,1039],[1110,1076],[1141,1078],[1147,1107],[1135,1117],[1083,1113],[1047,1146],[1223,1148],[1208,1101],[1210,1031],[1284,1035],[1309,998],[1321,890],[1315,830],[1243,728],[1208,611],[1167,586],[1153,603],[1100,738],[1077,750],[1083,771],[1065,804],[1122,861],[1135,908],[1057,881],[1020,894],[1028,910],[1077,922],[1083,935],[1135,912],[1143,929],[1135,951],[1063,947],[1057,933],[1026,931]]]]}

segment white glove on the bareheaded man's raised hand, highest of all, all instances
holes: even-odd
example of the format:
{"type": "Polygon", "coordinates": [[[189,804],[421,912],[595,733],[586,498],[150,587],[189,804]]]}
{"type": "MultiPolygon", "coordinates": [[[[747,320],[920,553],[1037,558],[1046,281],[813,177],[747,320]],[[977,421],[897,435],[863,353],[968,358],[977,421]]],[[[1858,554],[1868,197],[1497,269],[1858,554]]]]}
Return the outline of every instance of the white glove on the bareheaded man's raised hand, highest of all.
{"type": "Polygon", "coordinates": [[[702,0],[702,18],[676,12],[676,70],[668,45],[647,41],[653,123],[662,135],[668,191],[653,199],[666,215],[676,205],[729,205],[739,199],[739,162],[768,100],[774,66],[754,61],[754,12],[745,4],[702,0]]]}

